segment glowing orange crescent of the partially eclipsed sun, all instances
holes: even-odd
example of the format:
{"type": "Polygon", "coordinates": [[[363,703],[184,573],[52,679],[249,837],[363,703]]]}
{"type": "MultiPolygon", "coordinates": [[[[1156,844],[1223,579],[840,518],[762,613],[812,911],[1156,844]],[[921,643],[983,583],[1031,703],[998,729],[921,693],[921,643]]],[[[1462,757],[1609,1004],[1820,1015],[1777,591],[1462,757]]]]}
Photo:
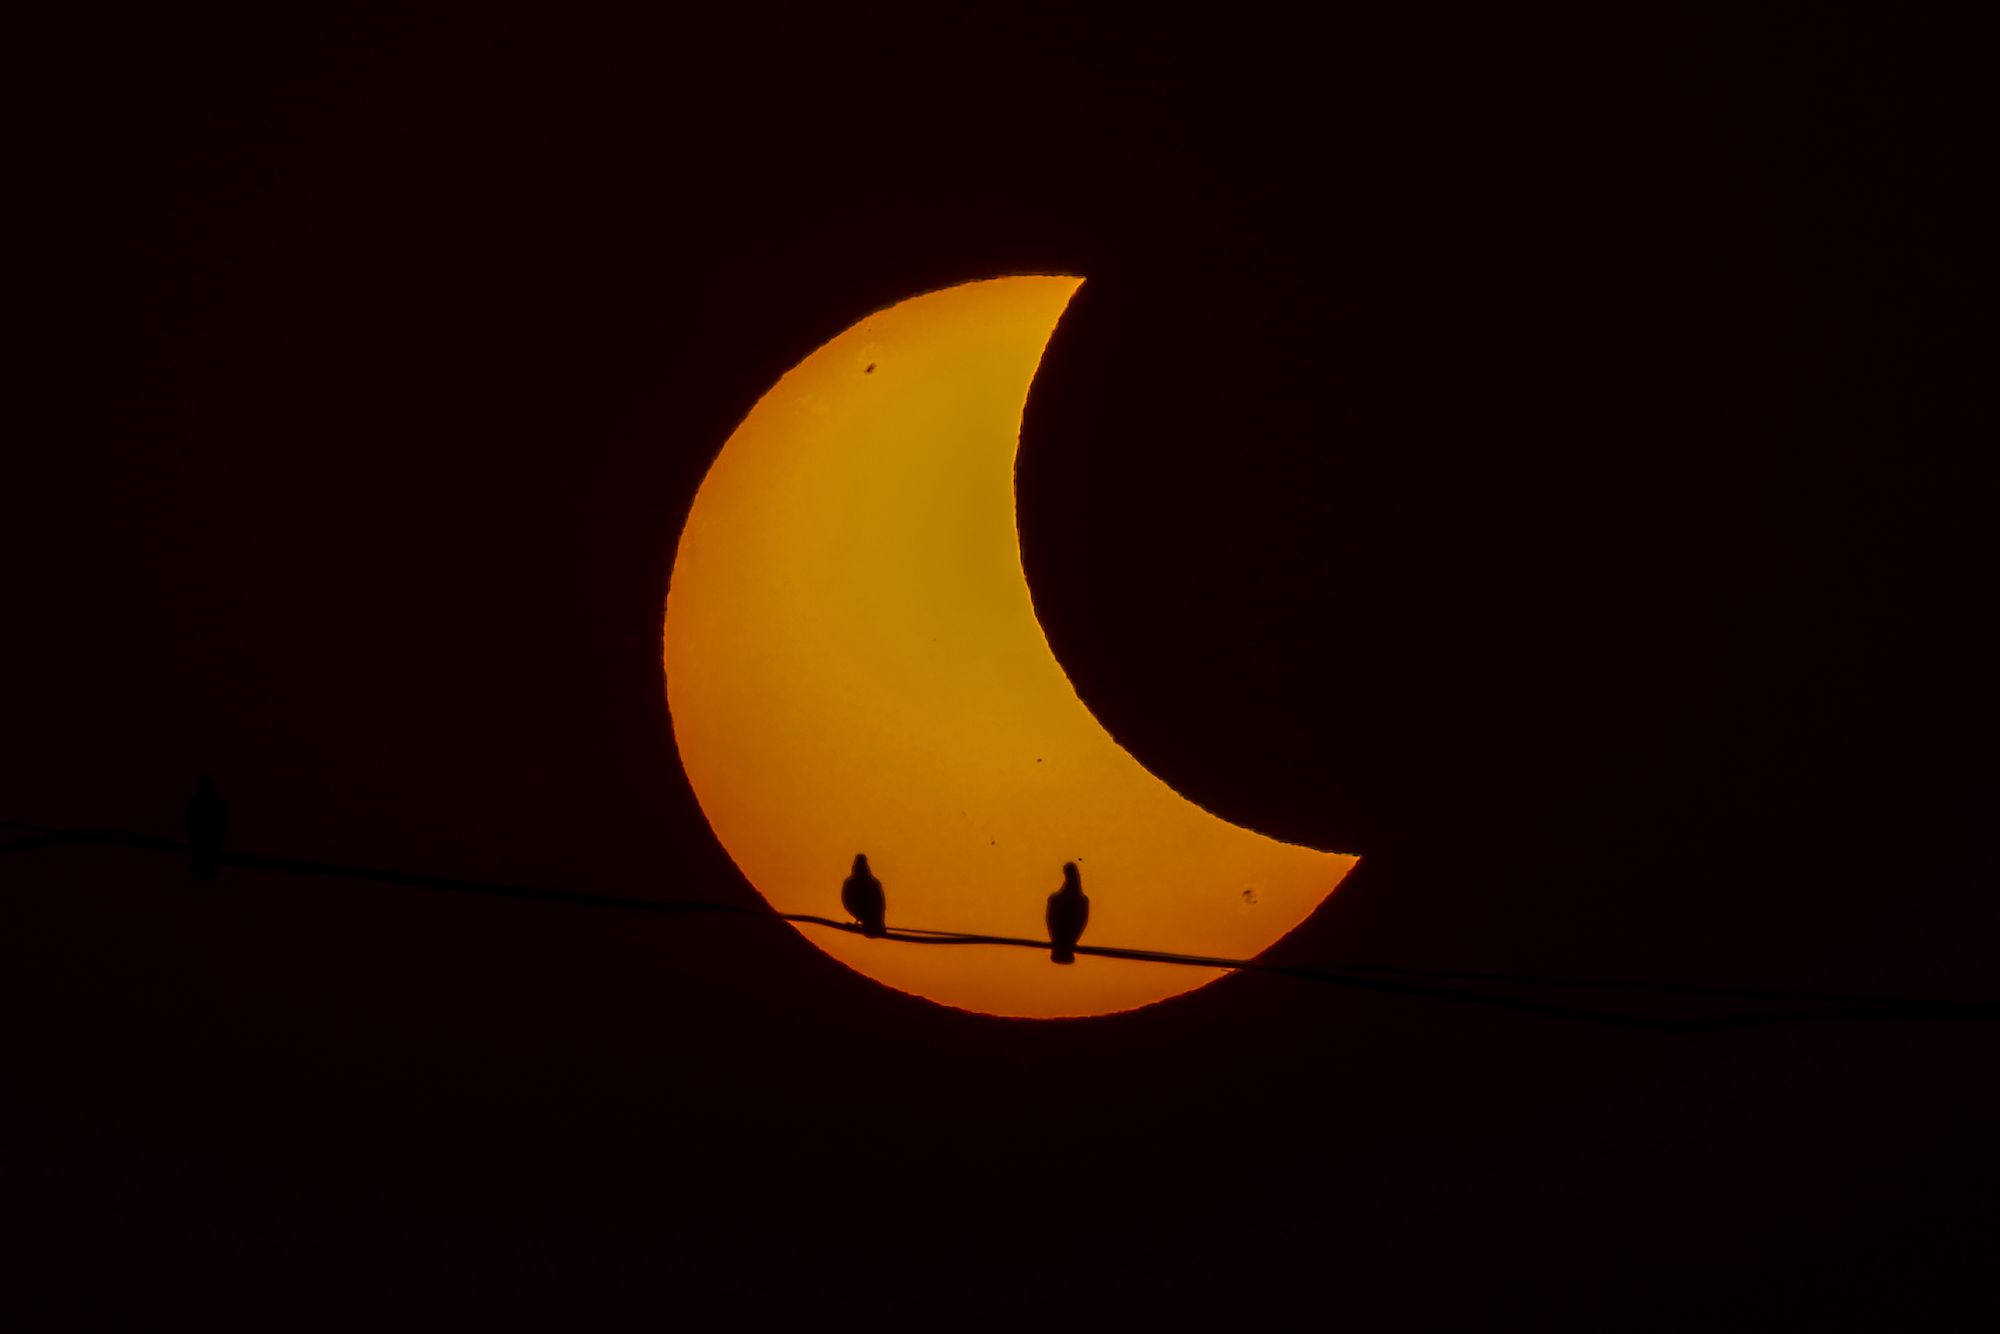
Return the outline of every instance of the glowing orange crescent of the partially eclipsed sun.
{"type": "MultiPolygon", "coordinates": [[[[1046,938],[1076,862],[1084,944],[1248,958],[1356,864],[1154,778],[1042,634],[1014,454],[1080,284],[994,278],[868,316],[758,400],[694,496],[666,598],[674,740],[716,838],[780,912],[842,916],[866,852],[892,930],[1046,938]]],[[[1108,1014],[1220,976],[800,930],[876,982],[986,1014],[1108,1014]]]]}

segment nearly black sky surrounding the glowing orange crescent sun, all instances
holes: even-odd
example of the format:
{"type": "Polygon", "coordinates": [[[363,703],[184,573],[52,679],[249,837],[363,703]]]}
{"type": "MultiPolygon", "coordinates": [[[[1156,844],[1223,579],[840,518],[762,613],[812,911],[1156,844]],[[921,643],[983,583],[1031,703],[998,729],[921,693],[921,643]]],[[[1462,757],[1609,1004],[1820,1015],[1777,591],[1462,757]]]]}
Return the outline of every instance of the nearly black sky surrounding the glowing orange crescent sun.
{"type": "MultiPolygon", "coordinates": [[[[660,678],[704,468],[858,316],[1076,272],[1036,606],[1154,772],[1364,856],[1282,958],[1996,1000],[1962,36],[942,8],[8,42],[0,818],[206,768],[242,852],[758,902],[660,678]]],[[[1990,1252],[1984,1024],[1014,1024],[748,920],[0,880],[60,1310],[1918,1328],[1990,1252]]]]}

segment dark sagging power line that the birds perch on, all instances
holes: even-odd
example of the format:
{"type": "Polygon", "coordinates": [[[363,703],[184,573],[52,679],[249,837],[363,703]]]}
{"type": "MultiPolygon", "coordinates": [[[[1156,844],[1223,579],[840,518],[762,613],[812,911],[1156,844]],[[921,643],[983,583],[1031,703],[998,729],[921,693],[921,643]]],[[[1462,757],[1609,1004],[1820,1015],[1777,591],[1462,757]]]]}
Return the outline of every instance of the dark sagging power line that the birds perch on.
{"type": "MultiPolygon", "coordinates": [[[[18,824],[8,820],[0,820],[0,828],[20,830],[26,834],[26,838],[0,844],[0,856],[8,852],[28,852],[32,848],[50,848],[64,844],[68,846],[98,844],[114,848],[136,848],[144,852],[168,852],[178,856],[188,856],[190,852],[190,846],[186,842],[174,838],[158,838],[152,834],[130,834],[122,830],[60,830],[36,824],[18,824]]],[[[500,880],[468,880],[462,876],[434,876],[424,872],[386,870],[380,866],[312,862],[304,858],[254,856],[242,852],[222,854],[218,860],[224,866],[240,866],[244,870],[262,870],[262,872],[296,874],[296,876],[328,876],[338,880],[362,880],[362,882],[394,884],[420,890],[440,890],[450,894],[506,898],[516,902],[564,904],[576,908],[622,908],[628,912],[712,914],[712,916],[736,916],[736,918],[752,918],[766,922],[782,920],[794,926],[820,926],[826,930],[840,930],[856,936],[862,934],[860,924],[846,922],[840,918],[828,918],[810,912],[776,912],[770,908],[750,908],[744,904],[728,904],[728,902],[660,900],[660,898],[636,898],[624,894],[594,894],[582,890],[564,890],[556,886],[508,884],[500,880]]],[[[928,944],[928,946],[1000,946],[1000,948],[1038,950],[1038,952],[1050,950],[1048,940],[1032,940],[1026,936],[988,936],[976,932],[926,930],[916,926],[888,928],[878,938],[894,940],[900,944],[928,944]]],[[[1382,964],[1296,966],[1296,964],[1278,964],[1258,958],[1218,958],[1204,954],[1132,950],[1122,946],[1100,946],[1100,944],[1076,944],[1074,950],[1076,954],[1088,954],[1092,958],[1128,960],[1142,964],[1216,968],[1226,972],[1270,972],[1288,978],[1298,978],[1304,982],[1344,986],[1362,992],[1474,1004],[1498,1010],[1512,1010],[1518,1014],[1536,1014],[1544,1018],[1606,1024],[1614,1028],[1638,1028],[1648,1032],[1712,1032],[1720,1028],[1750,1028],[1764,1024],[1798,1024],[1798,1022],[1824,1022],[1824,1020],[1894,1020],[1894,1022],[1930,1020],[1930,1022],[1974,1022],[1974,1024],[1990,1024],[2000,1020],[2000,1004],[1988,1004],[1988,1002],[1906,1000],[1890,996],[1844,996],[1832,992],[1786,992],[1786,990],[1758,988],[1758,986],[1734,988],[1734,986],[1692,986],[1692,984],[1670,984],[1670,982],[1662,984],[1662,982],[1590,980],[1590,978],[1540,978],[1540,976],[1508,974],[1508,972],[1422,970],[1422,968],[1396,968],[1382,964]],[[1604,1010],[1594,1006],[1576,1006],[1576,1004],[1540,1000],[1532,996],[1514,996],[1506,992],[1480,990],[1476,986],[1458,986],[1458,982],[1544,986],[1544,988],[1568,988],[1568,990],[1624,990],[1624,992],[1650,992],[1660,996],[1760,998],[1760,1000],[1782,1002],[1784,1006],[1790,1008],[1732,1010],[1724,1014],[1708,1014],[1694,1018],[1652,1016],[1652,1014],[1632,1014],[1624,1010],[1604,1010]]]]}

